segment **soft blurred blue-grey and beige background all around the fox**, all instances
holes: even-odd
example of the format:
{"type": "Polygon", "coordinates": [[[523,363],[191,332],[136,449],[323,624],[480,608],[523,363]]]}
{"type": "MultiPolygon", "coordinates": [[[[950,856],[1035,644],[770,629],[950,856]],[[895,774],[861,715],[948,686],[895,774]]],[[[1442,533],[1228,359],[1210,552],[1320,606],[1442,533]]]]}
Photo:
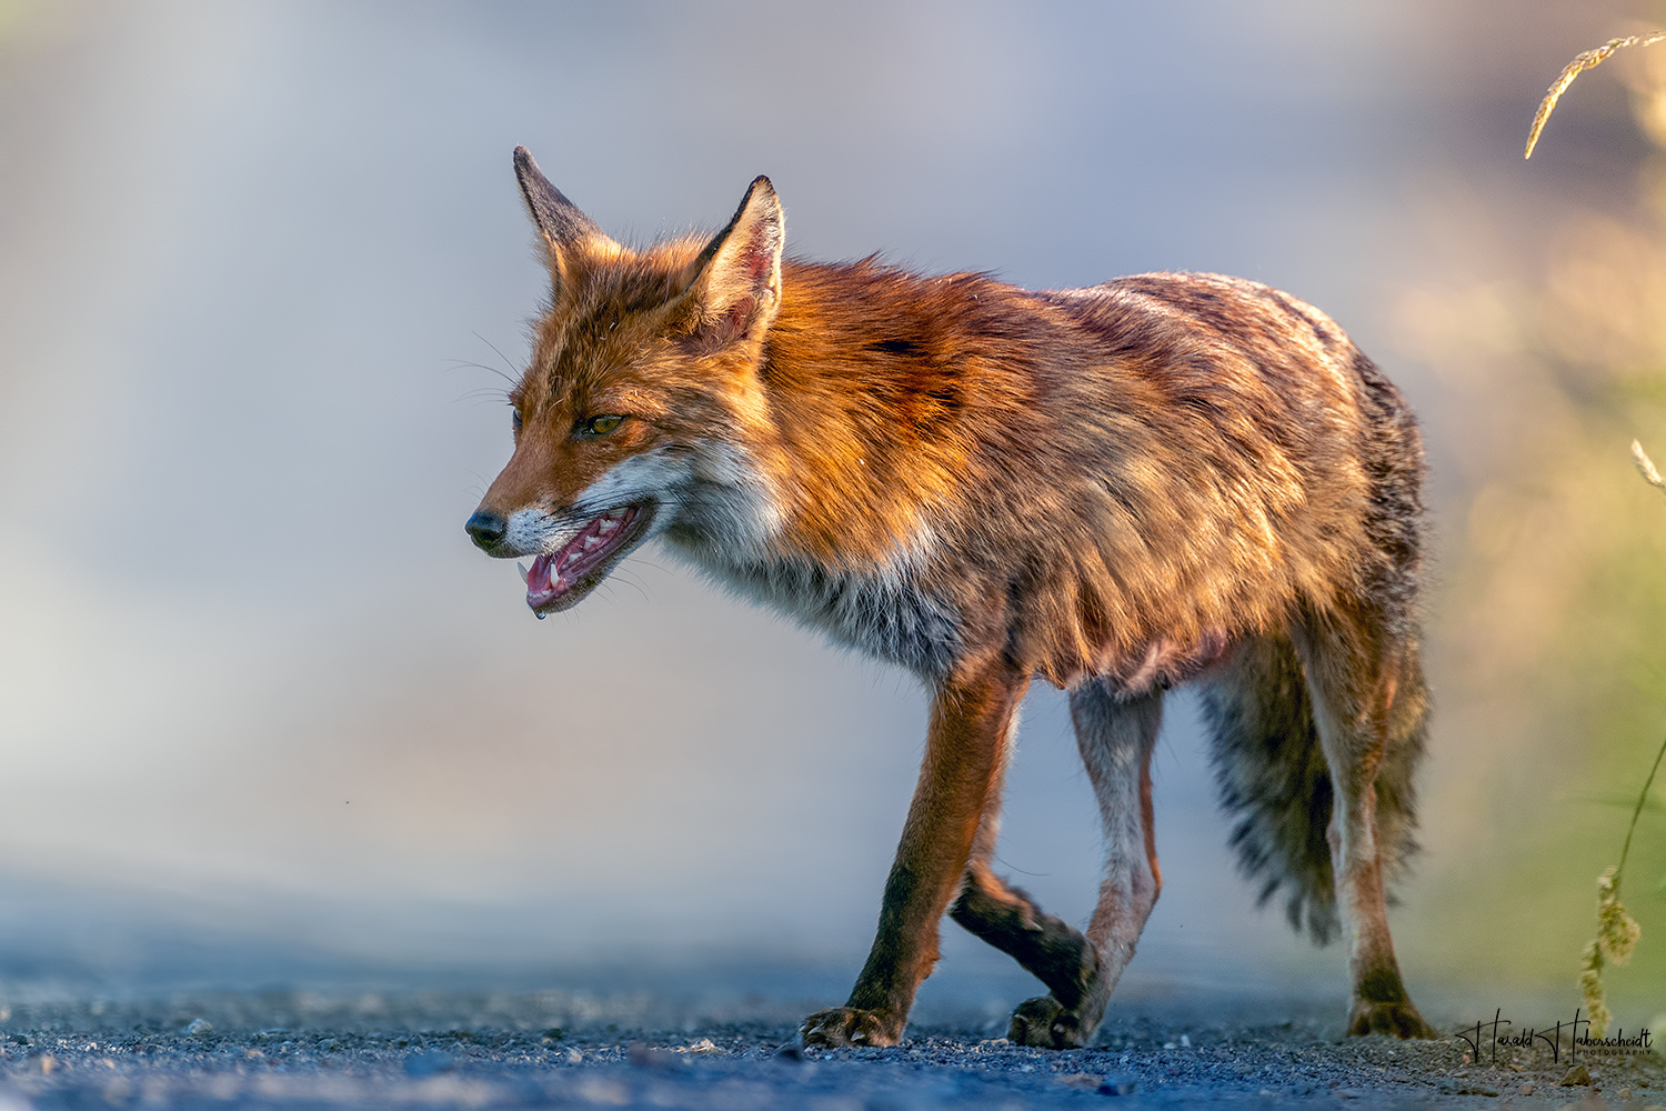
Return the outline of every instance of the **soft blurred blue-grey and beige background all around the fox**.
{"type": "MultiPolygon", "coordinates": [[[[1216,270],[1329,311],[1433,466],[1401,963],[1441,1018],[1571,1011],[1666,731],[1666,500],[1626,451],[1666,461],[1666,45],[1521,148],[1564,62],[1661,25],[1641,0],[0,0],[0,998],[843,996],[918,686],[656,551],[533,621],[461,531],[545,286],[525,143],[620,238],[715,227],[768,173],[808,257],[1216,270]]],[[[1051,690],[1008,798],[1005,866],[1085,921],[1098,828],[1051,690]]],[[[1629,1026],[1666,1006],[1654,798],[1609,973],[1629,1026]]],[[[1123,998],[1339,1008],[1339,948],[1233,873],[1186,696],[1156,806],[1123,998]]],[[[1030,994],[945,939],[926,1006],[1030,994]]]]}

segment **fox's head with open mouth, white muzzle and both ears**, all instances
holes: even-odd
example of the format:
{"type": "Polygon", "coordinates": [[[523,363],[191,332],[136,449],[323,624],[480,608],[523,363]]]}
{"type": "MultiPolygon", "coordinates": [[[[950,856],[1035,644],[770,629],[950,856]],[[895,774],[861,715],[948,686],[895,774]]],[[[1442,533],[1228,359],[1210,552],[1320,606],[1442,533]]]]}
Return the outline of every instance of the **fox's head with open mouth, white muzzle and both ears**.
{"type": "Polygon", "coordinates": [[[740,555],[778,528],[760,458],[760,363],[781,303],[781,203],[768,178],[710,242],[630,250],[515,148],[515,177],[550,265],[550,310],[510,391],[515,453],[468,518],[488,555],[531,556],[543,616],[595,590],[631,550],[740,555]]]}

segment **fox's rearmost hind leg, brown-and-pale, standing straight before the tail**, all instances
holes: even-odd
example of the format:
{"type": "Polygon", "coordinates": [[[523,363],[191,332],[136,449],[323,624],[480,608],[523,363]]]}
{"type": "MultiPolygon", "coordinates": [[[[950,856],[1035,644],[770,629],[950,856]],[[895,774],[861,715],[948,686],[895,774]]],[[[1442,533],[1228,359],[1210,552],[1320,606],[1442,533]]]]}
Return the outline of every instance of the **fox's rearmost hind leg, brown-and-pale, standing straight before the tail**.
{"type": "Polygon", "coordinates": [[[1369,613],[1313,618],[1296,646],[1333,786],[1326,834],[1353,979],[1348,1033],[1434,1038],[1406,993],[1388,933],[1384,841],[1394,831],[1379,815],[1379,788],[1398,788],[1403,750],[1421,743],[1424,691],[1416,646],[1386,628],[1369,613]]]}

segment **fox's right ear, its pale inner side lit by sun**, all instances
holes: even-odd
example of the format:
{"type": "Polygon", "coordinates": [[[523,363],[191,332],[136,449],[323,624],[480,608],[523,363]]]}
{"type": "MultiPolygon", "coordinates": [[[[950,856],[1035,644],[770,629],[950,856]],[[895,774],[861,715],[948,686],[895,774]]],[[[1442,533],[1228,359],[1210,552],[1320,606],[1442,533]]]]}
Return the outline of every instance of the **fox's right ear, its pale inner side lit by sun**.
{"type": "Polygon", "coordinates": [[[781,245],[786,220],[770,178],[746,188],[728,227],[716,233],[693,265],[691,291],[703,330],[726,340],[760,335],[781,306],[781,245]]]}

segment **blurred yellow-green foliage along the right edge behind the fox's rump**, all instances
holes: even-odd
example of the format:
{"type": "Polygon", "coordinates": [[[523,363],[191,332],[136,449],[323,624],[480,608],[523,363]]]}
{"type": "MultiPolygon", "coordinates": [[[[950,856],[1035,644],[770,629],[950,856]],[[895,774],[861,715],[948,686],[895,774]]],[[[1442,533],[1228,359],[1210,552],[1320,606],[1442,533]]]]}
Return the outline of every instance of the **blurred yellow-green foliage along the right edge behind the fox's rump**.
{"type": "MultiPolygon", "coordinates": [[[[1666,145],[1666,48],[1613,68],[1666,145]]],[[[1479,445],[1429,623],[1428,790],[1461,848],[1408,933],[1444,974],[1578,998],[1596,876],[1666,736],[1666,496],[1629,458],[1633,438],[1666,458],[1666,157],[1641,167],[1631,210],[1564,213],[1536,280],[1431,283],[1399,308],[1479,445]]],[[[1604,973],[1621,1021],[1666,1003],[1663,876],[1656,781],[1624,874],[1641,944],[1604,973]]]]}

